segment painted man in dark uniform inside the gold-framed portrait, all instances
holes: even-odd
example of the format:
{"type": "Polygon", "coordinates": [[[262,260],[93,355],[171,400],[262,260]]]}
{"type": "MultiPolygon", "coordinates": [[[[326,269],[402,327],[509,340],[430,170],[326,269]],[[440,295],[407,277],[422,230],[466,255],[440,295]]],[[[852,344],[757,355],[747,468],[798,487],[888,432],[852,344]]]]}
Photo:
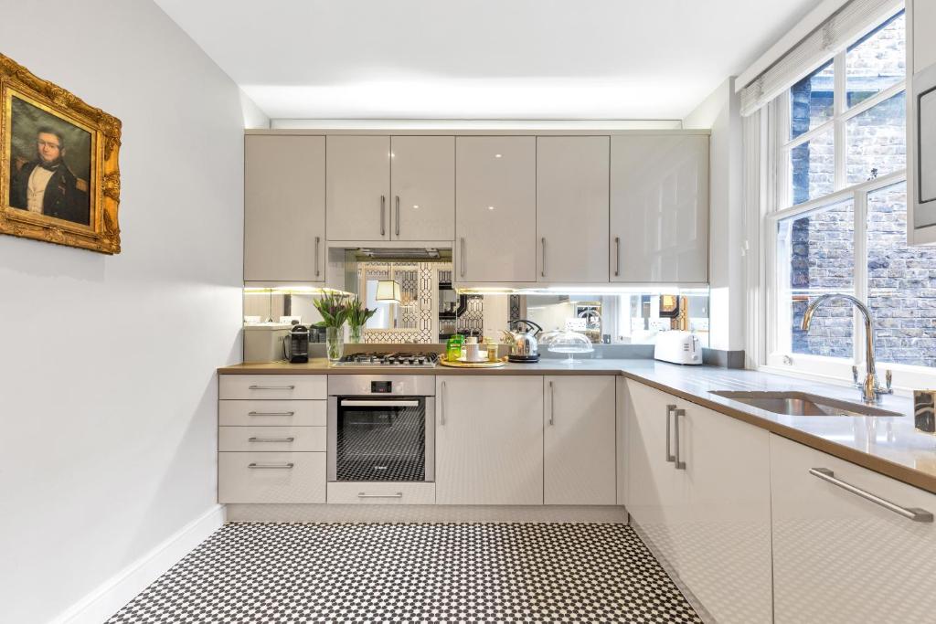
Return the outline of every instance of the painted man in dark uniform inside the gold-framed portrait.
{"type": "Polygon", "coordinates": [[[63,134],[49,126],[38,128],[36,157],[24,163],[17,163],[14,159],[12,163],[9,205],[76,224],[91,225],[88,184],[72,173],[65,156],[63,134]]]}

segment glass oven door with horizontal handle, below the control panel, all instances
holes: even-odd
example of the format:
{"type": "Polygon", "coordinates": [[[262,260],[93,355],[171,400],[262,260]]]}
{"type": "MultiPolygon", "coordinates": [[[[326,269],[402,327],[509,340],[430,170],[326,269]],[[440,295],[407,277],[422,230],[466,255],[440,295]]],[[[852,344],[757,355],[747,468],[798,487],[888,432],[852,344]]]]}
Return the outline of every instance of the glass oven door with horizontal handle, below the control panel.
{"type": "Polygon", "coordinates": [[[329,397],[329,481],[434,481],[434,408],[434,397],[329,397]]]}

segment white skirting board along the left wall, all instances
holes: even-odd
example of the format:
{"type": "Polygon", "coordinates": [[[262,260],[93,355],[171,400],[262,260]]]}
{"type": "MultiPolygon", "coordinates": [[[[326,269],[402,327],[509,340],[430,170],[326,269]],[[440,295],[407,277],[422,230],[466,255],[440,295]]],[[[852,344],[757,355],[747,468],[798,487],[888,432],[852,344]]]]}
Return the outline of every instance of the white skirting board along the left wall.
{"type": "Polygon", "coordinates": [[[225,523],[225,506],[207,512],[176,531],[52,620],[53,624],[100,624],[201,544],[225,523]]]}

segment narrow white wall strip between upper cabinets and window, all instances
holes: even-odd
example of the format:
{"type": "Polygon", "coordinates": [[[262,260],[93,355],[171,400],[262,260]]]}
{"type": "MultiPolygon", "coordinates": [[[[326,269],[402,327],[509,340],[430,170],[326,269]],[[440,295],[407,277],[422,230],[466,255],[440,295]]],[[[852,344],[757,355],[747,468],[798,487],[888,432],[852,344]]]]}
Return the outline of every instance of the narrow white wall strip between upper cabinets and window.
{"type": "Polygon", "coordinates": [[[739,95],[725,80],[683,121],[710,128],[709,284],[712,349],[744,349],[744,207],[739,95]]]}

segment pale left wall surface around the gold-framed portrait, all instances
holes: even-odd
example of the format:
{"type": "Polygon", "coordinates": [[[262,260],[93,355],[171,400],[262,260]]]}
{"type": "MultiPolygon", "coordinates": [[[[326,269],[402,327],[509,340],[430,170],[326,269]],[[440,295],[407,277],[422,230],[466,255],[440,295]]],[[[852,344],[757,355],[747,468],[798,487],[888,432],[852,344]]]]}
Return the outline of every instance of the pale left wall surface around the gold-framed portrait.
{"type": "Polygon", "coordinates": [[[241,346],[237,86],[149,0],[0,0],[0,51],[124,122],[124,252],[0,236],[0,621],[47,621],[215,502],[241,346]]]}

